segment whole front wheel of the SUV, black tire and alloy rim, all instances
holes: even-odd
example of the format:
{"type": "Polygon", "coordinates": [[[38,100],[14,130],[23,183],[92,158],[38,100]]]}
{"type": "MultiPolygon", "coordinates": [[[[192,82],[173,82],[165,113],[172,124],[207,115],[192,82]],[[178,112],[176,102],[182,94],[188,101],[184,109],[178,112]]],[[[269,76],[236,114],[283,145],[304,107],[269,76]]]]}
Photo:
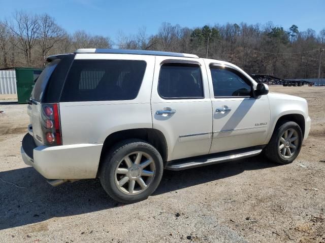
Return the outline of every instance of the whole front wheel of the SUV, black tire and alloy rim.
{"type": "Polygon", "coordinates": [[[294,121],[282,121],[273,132],[265,155],[277,164],[289,164],[294,161],[301,149],[302,131],[294,121]]]}

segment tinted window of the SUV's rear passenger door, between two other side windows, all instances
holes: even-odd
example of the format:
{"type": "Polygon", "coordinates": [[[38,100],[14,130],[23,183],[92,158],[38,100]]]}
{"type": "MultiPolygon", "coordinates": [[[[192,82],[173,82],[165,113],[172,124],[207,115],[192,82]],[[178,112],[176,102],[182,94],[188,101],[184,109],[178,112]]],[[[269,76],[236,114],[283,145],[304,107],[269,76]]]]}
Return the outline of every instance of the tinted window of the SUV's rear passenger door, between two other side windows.
{"type": "Polygon", "coordinates": [[[200,66],[164,64],[160,68],[158,93],[163,98],[203,98],[200,66]]]}

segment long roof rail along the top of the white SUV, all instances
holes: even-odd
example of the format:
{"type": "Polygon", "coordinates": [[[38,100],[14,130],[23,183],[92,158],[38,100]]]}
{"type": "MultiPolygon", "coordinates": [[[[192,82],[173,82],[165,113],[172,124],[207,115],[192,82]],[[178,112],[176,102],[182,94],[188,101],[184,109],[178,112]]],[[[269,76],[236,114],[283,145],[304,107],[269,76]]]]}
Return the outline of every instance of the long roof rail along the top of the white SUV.
{"type": "Polygon", "coordinates": [[[177,52],[160,52],[147,50],[128,50],[128,49],[78,49],[74,53],[109,53],[109,54],[134,54],[134,55],[153,55],[153,56],[170,56],[170,57],[190,57],[199,58],[197,55],[177,53],[177,52]]]}

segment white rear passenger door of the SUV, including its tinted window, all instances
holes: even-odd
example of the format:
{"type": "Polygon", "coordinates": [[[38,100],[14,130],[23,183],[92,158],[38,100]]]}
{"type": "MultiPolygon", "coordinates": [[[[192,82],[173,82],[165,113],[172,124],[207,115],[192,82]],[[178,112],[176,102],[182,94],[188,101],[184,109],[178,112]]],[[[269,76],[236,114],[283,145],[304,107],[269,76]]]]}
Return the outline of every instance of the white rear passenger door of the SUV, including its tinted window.
{"type": "Polygon", "coordinates": [[[153,128],[166,137],[168,160],[209,152],[212,106],[201,59],[156,57],[151,110],[153,128]]]}

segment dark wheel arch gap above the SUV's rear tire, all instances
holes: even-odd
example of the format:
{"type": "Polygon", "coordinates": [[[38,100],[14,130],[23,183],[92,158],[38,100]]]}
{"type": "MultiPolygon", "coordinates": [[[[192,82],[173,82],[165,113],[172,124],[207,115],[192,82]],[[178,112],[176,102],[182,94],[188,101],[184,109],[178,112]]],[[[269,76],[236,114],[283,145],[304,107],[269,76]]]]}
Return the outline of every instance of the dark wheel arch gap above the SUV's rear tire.
{"type": "Polygon", "coordinates": [[[99,173],[102,161],[106,153],[110,150],[110,148],[114,144],[125,139],[141,139],[150,143],[160,153],[161,158],[163,158],[164,166],[165,166],[167,161],[167,155],[168,155],[168,146],[167,146],[165,135],[161,131],[153,128],[126,129],[126,130],[114,132],[106,137],[101,151],[100,163],[99,163],[97,175],[99,173]]]}

